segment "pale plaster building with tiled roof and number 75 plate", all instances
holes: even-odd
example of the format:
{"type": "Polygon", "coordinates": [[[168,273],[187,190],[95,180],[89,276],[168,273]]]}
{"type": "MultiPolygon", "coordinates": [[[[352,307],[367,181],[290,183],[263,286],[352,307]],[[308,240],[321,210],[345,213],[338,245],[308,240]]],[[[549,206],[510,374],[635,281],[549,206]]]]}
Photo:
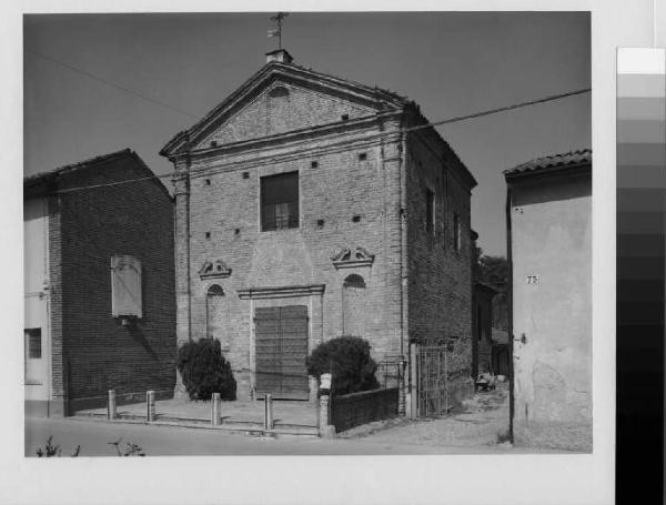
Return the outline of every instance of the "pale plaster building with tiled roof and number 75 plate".
{"type": "Polygon", "coordinates": [[[592,450],[592,151],[504,175],[514,436],[592,450]]]}

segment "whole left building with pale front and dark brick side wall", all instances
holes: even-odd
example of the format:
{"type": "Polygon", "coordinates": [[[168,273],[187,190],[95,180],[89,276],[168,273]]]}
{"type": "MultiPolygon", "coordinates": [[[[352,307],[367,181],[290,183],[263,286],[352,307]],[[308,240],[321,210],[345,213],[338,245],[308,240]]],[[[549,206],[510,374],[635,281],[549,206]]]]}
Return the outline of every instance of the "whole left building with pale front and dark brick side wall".
{"type": "Polygon", "coordinates": [[[23,180],[26,408],[173,395],[173,202],[124,150],[23,180]]]}

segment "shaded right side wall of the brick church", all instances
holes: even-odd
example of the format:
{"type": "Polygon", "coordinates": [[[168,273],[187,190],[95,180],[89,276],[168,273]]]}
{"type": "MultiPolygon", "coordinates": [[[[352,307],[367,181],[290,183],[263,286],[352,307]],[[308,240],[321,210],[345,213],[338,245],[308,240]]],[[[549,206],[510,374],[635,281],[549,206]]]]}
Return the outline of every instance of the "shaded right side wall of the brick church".
{"type": "Polygon", "coordinates": [[[411,135],[407,161],[410,340],[454,337],[450,372],[471,374],[472,241],[470,183],[452,151],[426,135],[411,135]],[[426,230],[426,189],[435,195],[434,229],[426,230]],[[458,214],[460,250],[454,248],[458,214]]]}

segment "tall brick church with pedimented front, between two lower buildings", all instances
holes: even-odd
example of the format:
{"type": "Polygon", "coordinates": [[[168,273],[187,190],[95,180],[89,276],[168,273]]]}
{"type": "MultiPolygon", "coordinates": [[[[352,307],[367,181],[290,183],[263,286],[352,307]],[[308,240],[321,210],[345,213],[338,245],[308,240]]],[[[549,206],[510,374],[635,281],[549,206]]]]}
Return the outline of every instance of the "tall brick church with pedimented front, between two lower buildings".
{"type": "Polygon", "coordinates": [[[312,398],[306,355],[350,334],[407,368],[410,343],[446,337],[470,376],[476,181],[426,123],[404,97],[278,50],[176,134],[161,154],[179,345],[219,339],[240,398],[312,398]]]}

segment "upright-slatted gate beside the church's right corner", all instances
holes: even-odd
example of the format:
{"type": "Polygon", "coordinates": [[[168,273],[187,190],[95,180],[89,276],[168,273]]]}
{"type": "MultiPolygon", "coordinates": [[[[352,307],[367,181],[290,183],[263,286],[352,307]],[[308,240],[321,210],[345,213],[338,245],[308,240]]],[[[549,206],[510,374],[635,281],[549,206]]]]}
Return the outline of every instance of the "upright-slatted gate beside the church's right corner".
{"type": "Polygon", "coordinates": [[[415,347],[416,415],[445,415],[448,413],[447,346],[416,344],[415,347]]]}

